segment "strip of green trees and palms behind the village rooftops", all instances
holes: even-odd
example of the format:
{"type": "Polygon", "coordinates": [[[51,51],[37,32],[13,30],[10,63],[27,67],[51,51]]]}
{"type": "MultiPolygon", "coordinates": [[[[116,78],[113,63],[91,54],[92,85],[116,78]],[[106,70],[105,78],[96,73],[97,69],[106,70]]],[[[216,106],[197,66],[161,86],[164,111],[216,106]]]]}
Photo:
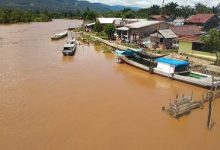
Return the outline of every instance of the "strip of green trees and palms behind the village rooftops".
{"type": "MultiPolygon", "coordinates": [[[[163,14],[171,16],[173,19],[176,17],[188,18],[196,13],[215,13],[220,14],[220,4],[216,7],[209,8],[206,5],[197,3],[192,6],[179,6],[176,2],[170,2],[163,8],[163,14]]],[[[152,5],[149,8],[139,9],[137,11],[126,8],[121,11],[109,11],[100,14],[104,17],[119,17],[119,18],[148,18],[151,15],[161,14],[161,7],[159,5],[152,5]]]]}

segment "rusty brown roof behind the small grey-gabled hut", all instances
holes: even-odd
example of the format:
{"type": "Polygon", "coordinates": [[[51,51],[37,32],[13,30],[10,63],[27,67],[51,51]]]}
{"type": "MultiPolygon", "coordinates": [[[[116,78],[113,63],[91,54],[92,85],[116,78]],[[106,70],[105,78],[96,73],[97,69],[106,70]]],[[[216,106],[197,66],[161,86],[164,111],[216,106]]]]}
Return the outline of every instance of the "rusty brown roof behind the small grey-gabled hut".
{"type": "Polygon", "coordinates": [[[171,27],[171,30],[178,36],[195,36],[200,35],[200,28],[196,25],[183,25],[177,27],[171,27]]]}

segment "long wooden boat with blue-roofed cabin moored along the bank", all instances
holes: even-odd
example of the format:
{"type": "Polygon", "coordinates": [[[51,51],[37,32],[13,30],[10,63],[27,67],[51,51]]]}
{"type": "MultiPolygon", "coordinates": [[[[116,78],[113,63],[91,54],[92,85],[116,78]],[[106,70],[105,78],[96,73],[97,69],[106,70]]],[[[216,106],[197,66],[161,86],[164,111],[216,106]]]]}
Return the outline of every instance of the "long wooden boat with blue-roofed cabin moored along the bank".
{"type": "Polygon", "coordinates": [[[215,78],[212,83],[212,76],[190,71],[190,64],[187,61],[167,58],[164,56],[141,57],[132,50],[116,50],[118,63],[125,62],[139,69],[149,71],[171,79],[179,80],[189,84],[209,88],[220,86],[220,78],[215,78]]]}

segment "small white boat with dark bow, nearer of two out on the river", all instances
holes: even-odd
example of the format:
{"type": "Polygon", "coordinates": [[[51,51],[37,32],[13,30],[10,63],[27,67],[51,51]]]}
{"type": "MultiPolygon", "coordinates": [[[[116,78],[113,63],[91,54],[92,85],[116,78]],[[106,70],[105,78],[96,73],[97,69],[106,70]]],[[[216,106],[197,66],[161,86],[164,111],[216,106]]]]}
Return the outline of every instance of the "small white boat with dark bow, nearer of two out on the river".
{"type": "Polygon", "coordinates": [[[63,47],[63,56],[73,56],[76,52],[76,40],[67,40],[63,47]]]}

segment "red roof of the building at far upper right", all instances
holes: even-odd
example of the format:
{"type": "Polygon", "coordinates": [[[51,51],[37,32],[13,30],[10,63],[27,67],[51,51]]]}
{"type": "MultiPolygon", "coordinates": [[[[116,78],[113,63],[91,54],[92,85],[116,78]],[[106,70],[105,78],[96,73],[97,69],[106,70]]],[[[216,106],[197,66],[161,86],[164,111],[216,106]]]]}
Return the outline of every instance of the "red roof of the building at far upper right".
{"type": "Polygon", "coordinates": [[[188,19],[186,19],[185,22],[187,23],[206,23],[209,19],[214,17],[215,14],[196,14],[190,16],[188,19]]]}

